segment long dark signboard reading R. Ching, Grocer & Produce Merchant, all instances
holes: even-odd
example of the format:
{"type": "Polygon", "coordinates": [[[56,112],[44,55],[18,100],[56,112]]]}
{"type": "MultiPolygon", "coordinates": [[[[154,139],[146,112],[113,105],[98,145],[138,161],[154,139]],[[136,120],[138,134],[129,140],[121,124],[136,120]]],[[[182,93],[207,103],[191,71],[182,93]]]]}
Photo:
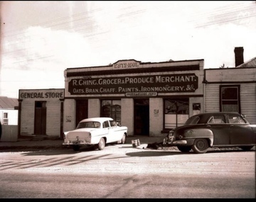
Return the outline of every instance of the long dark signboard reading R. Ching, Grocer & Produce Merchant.
{"type": "Polygon", "coordinates": [[[164,74],[135,77],[87,77],[71,79],[68,91],[72,95],[86,94],[126,94],[138,93],[194,92],[198,89],[196,74],[164,74]]]}

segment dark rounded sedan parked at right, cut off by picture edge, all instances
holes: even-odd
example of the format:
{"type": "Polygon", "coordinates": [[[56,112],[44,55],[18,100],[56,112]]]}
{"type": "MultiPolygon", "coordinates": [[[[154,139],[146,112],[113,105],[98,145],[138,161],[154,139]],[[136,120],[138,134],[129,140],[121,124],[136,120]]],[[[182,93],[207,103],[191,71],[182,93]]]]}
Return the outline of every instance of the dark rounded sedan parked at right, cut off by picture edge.
{"type": "Polygon", "coordinates": [[[256,125],[251,125],[240,113],[200,113],[170,130],[163,144],[176,146],[181,152],[192,149],[197,154],[206,153],[210,147],[251,150],[256,145],[256,125]]]}

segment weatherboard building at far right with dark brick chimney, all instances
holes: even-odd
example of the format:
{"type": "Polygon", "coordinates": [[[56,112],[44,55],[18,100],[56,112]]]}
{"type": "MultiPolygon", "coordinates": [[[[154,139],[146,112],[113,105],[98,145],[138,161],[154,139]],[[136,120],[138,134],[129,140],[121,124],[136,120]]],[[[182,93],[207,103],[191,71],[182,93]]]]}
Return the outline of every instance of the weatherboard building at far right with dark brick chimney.
{"type": "Polygon", "coordinates": [[[256,57],[244,62],[235,47],[235,67],[205,69],[205,111],[234,111],[256,124],[256,57]]]}

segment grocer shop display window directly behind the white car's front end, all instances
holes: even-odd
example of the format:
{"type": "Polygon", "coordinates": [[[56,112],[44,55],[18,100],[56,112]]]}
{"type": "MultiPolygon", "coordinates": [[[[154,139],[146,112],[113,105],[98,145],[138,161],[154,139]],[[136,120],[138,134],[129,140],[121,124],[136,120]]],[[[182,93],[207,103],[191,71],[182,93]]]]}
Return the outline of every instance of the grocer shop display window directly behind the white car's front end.
{"type": "Polygon", "coordinates": [[[121,123],[121,100],[102,100],[101,116],[113,118],[121,123]]]}

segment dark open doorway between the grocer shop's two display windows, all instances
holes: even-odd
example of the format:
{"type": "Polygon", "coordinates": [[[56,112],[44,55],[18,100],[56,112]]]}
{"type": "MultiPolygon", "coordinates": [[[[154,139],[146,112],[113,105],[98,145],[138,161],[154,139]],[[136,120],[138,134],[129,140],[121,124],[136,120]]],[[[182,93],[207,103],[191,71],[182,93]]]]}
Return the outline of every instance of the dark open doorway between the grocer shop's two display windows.
{"type": "Polygon", "coordinates": [[[134,135],[149,136],[149,99],[134,99],[134,135]]]}

